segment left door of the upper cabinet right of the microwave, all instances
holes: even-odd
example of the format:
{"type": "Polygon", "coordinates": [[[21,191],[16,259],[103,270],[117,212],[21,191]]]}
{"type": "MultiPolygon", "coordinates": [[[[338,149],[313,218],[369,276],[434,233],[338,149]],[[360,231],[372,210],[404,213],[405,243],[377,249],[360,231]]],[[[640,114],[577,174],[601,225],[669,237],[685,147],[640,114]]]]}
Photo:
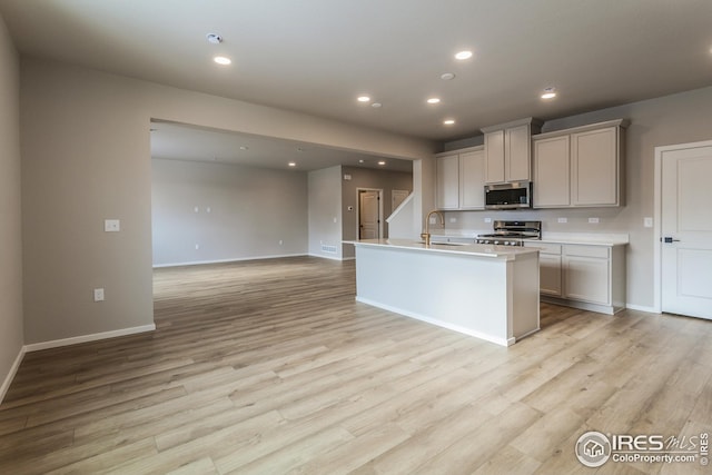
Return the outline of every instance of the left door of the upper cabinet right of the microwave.
{"type": "Polygon", "coordinates": [[[568,136],[534,141],[534,208],[557,208],[571,204],[568,136]]]}

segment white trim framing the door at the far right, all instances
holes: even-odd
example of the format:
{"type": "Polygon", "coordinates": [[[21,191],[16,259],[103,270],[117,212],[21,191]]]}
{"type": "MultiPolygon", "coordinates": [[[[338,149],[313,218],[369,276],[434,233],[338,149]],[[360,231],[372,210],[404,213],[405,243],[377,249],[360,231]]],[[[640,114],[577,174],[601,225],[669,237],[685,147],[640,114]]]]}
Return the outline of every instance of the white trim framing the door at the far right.
{"type": "Polygon", "coordinates": [[[662,250],[660,238],[662,237],[662,206],[663,206],[663,154],[672,150],[683,150],[688,148],[712,147],[712,140],[703,140],[699,142],[676,144],[655,147],[655,178],[654,178],[654,197],[653,197],[653,309],[655,314],[663,310],[662,304],[662,250]]]}

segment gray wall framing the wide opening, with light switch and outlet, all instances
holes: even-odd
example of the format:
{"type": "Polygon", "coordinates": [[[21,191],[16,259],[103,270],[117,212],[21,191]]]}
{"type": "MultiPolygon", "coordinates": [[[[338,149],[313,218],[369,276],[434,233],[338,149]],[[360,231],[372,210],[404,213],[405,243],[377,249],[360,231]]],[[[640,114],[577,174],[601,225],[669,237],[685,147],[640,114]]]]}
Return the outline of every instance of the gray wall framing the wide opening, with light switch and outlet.
{"type": "Polygon", "coordinates": [[[21,75],[26,344],[152,324],[151,119],[409,159],[435,147],[53,61],[22,58],[21,75]]]}

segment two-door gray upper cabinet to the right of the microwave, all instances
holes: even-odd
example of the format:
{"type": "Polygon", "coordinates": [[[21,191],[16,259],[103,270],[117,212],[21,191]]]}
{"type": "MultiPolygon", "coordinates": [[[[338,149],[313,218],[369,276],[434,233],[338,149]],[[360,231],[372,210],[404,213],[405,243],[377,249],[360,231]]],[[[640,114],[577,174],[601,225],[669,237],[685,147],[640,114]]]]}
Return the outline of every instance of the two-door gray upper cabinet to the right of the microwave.
{"type": "Polygon", "coordinates": [[[612,120],[533,137],[534,208],[624,205],[624,130],[612,120]]]}

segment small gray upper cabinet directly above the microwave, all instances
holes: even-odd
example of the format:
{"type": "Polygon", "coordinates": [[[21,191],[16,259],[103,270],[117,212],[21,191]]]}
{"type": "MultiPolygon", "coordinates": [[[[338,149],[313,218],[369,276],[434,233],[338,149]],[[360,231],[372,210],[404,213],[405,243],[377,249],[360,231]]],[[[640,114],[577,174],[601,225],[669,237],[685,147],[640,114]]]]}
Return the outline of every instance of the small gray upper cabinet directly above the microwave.
{"type": "Polygon", "coordinates": [[[485,182],[531,180],[532,133],[541,121],[527,118],[482,129],[485,135],[485,182]]]}

